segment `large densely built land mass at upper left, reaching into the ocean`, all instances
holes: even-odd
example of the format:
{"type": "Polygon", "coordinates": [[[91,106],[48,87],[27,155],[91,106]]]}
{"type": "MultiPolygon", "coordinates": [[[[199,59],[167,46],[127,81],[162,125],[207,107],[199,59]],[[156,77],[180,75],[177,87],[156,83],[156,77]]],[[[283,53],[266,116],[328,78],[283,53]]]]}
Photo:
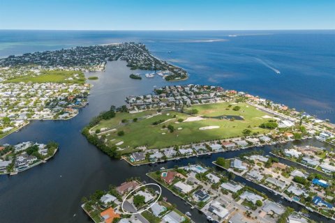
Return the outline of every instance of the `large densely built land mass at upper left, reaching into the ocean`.
{"type": "MultiPolygon", "coordinates": [[[[154,70],[173,81],[187,72],[151,55],[141,43],[120,43],[34,52],[0,59],[0,139],[31,120],[66,120],[87,105],[91,85],[84,72],[105,70],[107,61],[132,70],[154,70]]],[[[88,79],[98,79],[89,77],[88,79]]]]}

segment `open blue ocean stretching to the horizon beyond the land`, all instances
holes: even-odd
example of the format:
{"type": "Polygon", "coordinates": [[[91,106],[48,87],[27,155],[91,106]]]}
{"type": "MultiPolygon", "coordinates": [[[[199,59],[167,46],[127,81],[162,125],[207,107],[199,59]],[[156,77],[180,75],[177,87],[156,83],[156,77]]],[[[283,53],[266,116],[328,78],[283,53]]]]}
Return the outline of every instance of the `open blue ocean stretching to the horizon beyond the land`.
{"type": "Polygon", "coordinates": [[[220,85],[335,122],[335,31],[0,31],[0,57],[142,42],[188,70],[184,82],[220,85]]]}

